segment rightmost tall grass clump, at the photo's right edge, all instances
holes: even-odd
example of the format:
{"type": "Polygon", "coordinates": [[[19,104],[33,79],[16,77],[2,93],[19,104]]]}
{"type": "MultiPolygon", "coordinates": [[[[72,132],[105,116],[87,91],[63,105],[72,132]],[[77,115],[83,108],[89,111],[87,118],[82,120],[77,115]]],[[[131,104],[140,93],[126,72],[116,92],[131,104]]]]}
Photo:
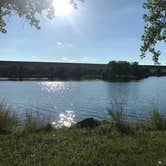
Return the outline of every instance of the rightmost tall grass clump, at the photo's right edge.
{"type": "Polygon", "coordinates": [[[159,112],[156,106],[153,106],[150,112],[149,125],[152,130],[165,130],[166,118],[159,112]]]}

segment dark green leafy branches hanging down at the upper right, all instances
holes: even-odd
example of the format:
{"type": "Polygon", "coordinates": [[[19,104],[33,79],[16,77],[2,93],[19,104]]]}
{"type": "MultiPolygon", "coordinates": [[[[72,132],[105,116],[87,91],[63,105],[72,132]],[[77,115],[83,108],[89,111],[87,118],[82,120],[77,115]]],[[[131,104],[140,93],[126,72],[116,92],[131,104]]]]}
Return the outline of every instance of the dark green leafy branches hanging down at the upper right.
{"type": "Polygon", "coordinates": [[[161,52],[156,50],[156,44],[159,41],[166,43],[166,0],[146,0],[143,7],[148,12],[143,16],[146,25],[142,35],[141,57],[144,58],[149,51],[153,54],[154,63],[159,64],[161,52]]]}

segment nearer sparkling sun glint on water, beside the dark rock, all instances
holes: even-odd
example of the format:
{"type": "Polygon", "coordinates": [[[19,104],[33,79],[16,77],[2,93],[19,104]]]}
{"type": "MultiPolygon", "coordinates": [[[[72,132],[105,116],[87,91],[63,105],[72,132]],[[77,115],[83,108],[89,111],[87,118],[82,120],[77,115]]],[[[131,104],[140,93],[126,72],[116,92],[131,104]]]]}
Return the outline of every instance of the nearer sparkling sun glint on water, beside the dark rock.
{"type": "Polygon", "coordinates": [[[68,110],[65,113],[60,113],[59,120],[57,122],[52,122],[52,125],[56,128],[71,127],[71,125],[75,123],[74,118],[74,112],[68,110]]]}

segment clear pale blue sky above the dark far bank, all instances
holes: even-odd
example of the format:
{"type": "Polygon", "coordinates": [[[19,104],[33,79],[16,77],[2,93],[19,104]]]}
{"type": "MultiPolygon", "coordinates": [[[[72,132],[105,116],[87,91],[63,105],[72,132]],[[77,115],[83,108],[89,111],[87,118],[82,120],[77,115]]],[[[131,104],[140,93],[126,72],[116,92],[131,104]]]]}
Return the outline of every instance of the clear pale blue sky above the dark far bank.
{"type": "MultiPolygon", "coordinates": [[[[68,17],[41,18],[41,30],[16,16],[0,34],[0,60],[108,63],[112,60],[153,64],[140,59],[144,0],[85,0],[68,17]]],[[[166,64],[166,46],[160,62],[166,64]]]]}

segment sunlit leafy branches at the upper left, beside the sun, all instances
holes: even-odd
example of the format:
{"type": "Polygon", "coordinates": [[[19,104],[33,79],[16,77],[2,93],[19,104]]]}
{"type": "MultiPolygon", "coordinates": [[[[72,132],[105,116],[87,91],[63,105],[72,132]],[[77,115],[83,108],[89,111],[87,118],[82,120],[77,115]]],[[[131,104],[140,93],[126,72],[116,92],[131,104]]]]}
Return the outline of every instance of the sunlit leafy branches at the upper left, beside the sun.
{"type": "MultiPolygon", "coordinates": [[[[77,8],[75,0],[70,0],[77,8]]],[[[40,29],[39,16],[45,12],[48,18],[54,17],[53,0],[0,0],[0,32],[6,33],[5,17],[13,13],[23,17],[30,25],[40,29]]]]}

